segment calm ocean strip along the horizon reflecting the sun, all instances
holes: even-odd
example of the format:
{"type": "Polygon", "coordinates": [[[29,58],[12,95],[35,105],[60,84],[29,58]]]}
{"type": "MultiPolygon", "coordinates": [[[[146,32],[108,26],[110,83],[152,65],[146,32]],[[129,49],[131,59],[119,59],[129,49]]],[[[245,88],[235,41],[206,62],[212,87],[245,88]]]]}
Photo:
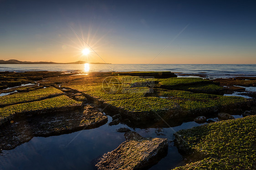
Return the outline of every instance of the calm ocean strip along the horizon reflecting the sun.
{"type": "Polygon", "coordinates": [[[255,76],[256,65],[226,64],[6,64],[0,71],[172,71],[215,77],[255,76]]]}

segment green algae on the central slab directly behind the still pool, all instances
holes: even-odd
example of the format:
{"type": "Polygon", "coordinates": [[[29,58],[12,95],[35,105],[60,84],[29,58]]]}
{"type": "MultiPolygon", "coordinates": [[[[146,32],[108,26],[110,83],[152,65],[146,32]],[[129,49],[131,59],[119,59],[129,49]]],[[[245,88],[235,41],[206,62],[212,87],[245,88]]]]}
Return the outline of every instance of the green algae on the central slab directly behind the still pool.
{"type": "MultiPolygon", "coordinates": [[[[164,93],[164,96],[166,96],[166,98],[140,97],[133,99],[113,100],[106,103],[108,105],[111,105],[112,108],[119,108],[127,112],[148,113],[146,115],[137,114],[136,120],[139,120],[140,117],[142,118],[143,116],[146,116],[148,118],[152,117],[152,113],[165,114],[169,111],[174,110],[190,110],[194,112],[196,110],[201,110],[205,108],[220,109],[222,106],[236,105],[237,103],[246,101],[246,99],[242,97],[194,94],[191,92],[179,90],[160,91],[160,93],[164,93]]],[[[133,117],[134,116],[135,115],[133,115],[133,117]]],[[[144,118],[145,117],[143,117],[143,119],[144,118]]]]}

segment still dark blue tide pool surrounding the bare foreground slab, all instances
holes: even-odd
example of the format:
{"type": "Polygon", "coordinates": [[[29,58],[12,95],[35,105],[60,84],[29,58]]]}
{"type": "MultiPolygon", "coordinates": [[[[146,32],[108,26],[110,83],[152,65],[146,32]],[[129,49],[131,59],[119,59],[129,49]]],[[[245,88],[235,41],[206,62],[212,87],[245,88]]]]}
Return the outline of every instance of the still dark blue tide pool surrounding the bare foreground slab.
{"type": "MultiPolygon", "coordinates": [[[[241,115],[233,115],[241,118],[241,115]]],[[[208,119],[209,120],[209,119],[208,119]]],[[[217,118],[211,118],[217,120],[217,118]]],[[[108,116],[108,123],[112,118],[108,116]]],[[[13,150],[3,150],[0,154],[0,170],[95,170],[94,162],[104,153],[116,149],[123,141],[123,134],[116,132],[119,124],[107,124],[91,130],[81,130],[71,134],[34,137],[29,142],[13,150]]],[[[206,123],[204,123],[206,124],[206,123]]],[[[174,146],[173,134],[181,129],[189,129],[198,124],[194,121],[169,128],[129,128],[143,137],[168,138],[168,154],[149,170],[167,170],[183,163],[182,155],[174,146]],[[157,131],[158,130],[158,131],[157,131]]]]}

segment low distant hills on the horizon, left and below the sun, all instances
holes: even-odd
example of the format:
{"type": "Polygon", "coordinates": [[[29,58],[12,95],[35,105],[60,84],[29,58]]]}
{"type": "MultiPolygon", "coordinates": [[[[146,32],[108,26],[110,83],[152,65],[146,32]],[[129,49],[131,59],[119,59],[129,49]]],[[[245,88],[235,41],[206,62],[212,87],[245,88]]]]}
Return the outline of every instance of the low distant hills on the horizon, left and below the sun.
{"type": "MultiPolygon", "coordinates": [[[[89,63],[86,61],[76,61],[71,63],[55,63],[55,62],[46,62],[46,61],[39,61],[39,62],[32,62],[32,61],[19,61],[19,60],[0,60],[0,64],[85,64],[89,63]]],[[[111,64],[111,63],[89,63],[89,64],[111,64]]]]}

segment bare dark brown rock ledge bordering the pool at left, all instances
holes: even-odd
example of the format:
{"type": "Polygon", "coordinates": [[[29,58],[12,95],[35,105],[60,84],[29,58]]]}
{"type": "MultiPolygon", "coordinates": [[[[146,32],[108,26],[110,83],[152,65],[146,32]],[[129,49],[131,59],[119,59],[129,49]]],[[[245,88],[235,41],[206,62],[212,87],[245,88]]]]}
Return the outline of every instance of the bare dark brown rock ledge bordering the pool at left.
{"type": "Polygon", "coordinates": [[[0,150],[11,150],[30,141],[34,136],[68,134],[93,129],[108,122],[108,117],[91,105],[83,111],[70,111],[36,115],[22,120],[12,120],[0,127],[0,150]]]}

